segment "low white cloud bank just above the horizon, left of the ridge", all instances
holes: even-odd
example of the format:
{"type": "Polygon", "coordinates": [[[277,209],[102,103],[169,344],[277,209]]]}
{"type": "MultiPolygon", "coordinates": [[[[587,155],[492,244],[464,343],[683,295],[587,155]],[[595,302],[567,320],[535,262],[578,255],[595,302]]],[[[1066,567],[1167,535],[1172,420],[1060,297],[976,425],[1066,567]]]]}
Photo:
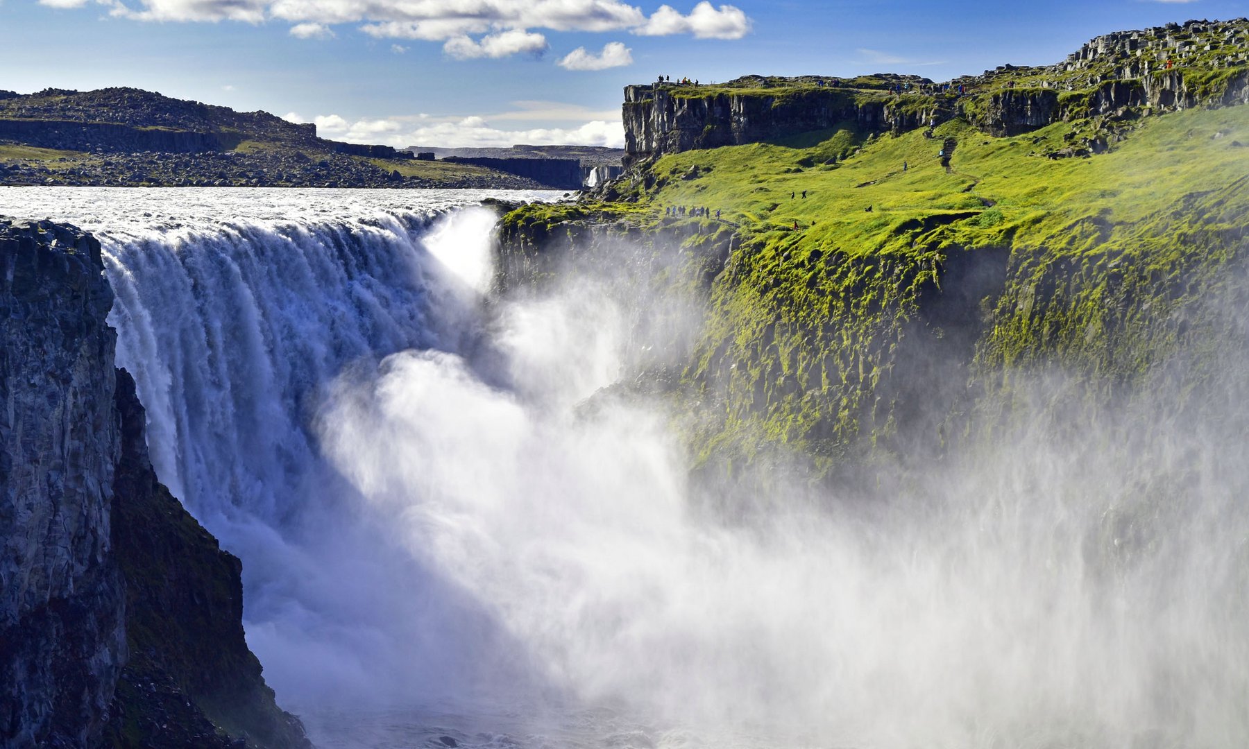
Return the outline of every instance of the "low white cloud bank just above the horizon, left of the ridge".
{"type": "MultiPolygon", "coordinates": [[[[287,115],[290,120],[292,115],[287,115]]],[[[295,120],[292,120],[295,121],[295,120]]],[[[431,117],[410,115],[383,120],[347,121],[338,115],[313,117],[317,135],[356,144],[407,146],[511,146],[586,145],[623,147],[624,127],[620,120],[591,120],[571,127],[503,129],[480,115],[468,117],[431,117]]]]}

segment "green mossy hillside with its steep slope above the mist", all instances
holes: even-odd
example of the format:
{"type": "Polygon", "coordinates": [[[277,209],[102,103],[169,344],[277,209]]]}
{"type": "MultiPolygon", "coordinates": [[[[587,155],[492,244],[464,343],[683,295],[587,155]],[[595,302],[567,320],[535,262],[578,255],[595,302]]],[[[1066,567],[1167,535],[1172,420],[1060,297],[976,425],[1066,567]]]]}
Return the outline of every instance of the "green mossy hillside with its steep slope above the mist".
{"type": "Polygon", "coordinates": [[[613,202],[508,221],[551,236],[602,211],[689,246],[732,232],[684,362],[692,443],[703,459],[788,446],[827,469],[917,434],[940,451],[950,414],[1019,372],[1059,366],[1105,396],[1199,337],[1192,310],[1244,248],[1249,107],[1149,116],[1105,154],[1043,156],[1088,126],[847,125],[686,151],[613,202]]]}

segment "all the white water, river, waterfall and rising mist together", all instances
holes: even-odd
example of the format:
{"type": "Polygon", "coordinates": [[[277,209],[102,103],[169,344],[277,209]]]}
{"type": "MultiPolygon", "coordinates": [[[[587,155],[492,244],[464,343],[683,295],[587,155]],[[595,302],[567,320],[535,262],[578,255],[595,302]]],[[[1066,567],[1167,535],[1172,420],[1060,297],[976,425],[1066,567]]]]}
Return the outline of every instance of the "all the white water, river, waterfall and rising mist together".
{"type": "Polygon", "coordinates": [[[662,411],[578,407],[629,290],[480,306],[488,218],[427,218],[478,198],[0,190],[100,232],[157,472],[326,747],[1244,744],[1242,328],[1228,424],[1059,409],[872,512],[737,497],[743,528],[662,411]]]}

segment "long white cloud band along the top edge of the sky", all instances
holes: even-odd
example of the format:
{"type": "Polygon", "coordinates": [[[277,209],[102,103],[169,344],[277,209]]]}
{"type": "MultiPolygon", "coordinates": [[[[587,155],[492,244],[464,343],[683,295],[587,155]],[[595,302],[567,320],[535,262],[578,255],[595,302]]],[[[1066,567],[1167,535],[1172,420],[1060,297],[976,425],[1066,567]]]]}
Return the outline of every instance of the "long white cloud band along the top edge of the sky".
{"type": "MultiPolygon", "coordinates": [[[[90,0],[39,0],[55,7],[77,7],[90,0]]],[[[741,39],[751,19],[733,5],[707,0],[682,15],[671,5],[649,17],[626,0],[95,0],[115,16],[145,21],[221,21],[260,24],[277,19],[291,34],[325,37],[335,24],[360,24],[380,39],[446,42],[458,57],[501,57],[536,51],[532,30],[623,31],[647,36],[691,34],[698,39],[741,39]],[[482,36],[473,41],[472,37],[482,36]],[[523,42],[520,40],[523,37],[523,42]],[[507,52],[507,49],[516,49],[507,52]]],[[[542,49],[546,40],[542,39],[542,49]]]]}

